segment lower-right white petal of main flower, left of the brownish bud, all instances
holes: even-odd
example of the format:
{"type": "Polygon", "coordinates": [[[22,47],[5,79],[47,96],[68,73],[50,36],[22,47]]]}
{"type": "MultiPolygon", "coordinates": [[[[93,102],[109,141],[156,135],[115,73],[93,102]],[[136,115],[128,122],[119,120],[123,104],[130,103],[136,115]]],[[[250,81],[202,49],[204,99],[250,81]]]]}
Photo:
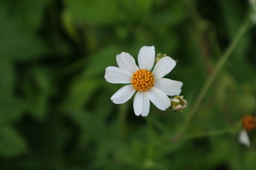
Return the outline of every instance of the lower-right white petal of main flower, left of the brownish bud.
{"type": "Polygon", "coordinates": [[[146,92],[148,98],[152,103],[155,104],[159,110],[166,110],[171,106],[171,101],[168,96],[162,91],[155,87],[152,87],[146,92]]]}

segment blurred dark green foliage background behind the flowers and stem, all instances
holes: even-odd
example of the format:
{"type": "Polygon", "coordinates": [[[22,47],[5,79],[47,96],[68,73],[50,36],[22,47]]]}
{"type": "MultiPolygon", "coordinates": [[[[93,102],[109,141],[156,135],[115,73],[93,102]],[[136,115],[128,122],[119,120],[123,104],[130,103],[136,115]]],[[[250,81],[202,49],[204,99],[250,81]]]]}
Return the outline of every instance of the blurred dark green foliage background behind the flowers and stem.
{"type": "Polygon", "coordinates": [[[256,29],[244,34],[179,141],[205,80],[243,24],[248,1],[1,0],[0,169],[255,169],[237,141],[256,113],[256,29]],[[141,46],[178,60],[168,78],[184,83],[183,113],[136,117],[132,100],[110,97],[115,57],[141,46]]]}

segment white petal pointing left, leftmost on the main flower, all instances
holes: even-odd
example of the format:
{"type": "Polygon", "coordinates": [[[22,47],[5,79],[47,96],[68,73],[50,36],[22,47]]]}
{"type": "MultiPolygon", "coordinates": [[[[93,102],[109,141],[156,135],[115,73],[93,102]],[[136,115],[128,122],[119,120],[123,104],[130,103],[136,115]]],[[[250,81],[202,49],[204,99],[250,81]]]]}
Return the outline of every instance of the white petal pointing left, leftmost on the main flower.
{"type": "Polygon", "coordinates": [[[119,67],[110,66],[106,68],[104,78],[109,83],[131,83],[132,74],[125,70],[120,69],[119,67]]]}

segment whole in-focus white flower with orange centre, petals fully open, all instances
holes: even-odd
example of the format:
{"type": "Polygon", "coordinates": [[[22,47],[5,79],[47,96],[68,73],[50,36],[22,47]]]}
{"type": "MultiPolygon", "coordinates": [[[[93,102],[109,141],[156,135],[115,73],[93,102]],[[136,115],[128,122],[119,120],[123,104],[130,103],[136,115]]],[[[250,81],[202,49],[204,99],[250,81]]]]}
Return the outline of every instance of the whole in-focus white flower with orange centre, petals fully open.
{"type": "Polygon", "coordinates": [[[163,57],[151,71],[155,55],[154,46],[143,46],[138,54],[139,67],[129,53],[122,52],[116,55],[118,67],[106,68],[104,77],[109,83],[129,83],[119,89],[111,97],[111,101],[115,104],[125,103],[136,92],[133,101],[136,116],[147,117],[150,101],[159,110],[166,110],[171,106],[168,96],[176,96],[181,92],[182,82],[163,78],[175,67],[175,60],[168,56],[163,57]]]}

